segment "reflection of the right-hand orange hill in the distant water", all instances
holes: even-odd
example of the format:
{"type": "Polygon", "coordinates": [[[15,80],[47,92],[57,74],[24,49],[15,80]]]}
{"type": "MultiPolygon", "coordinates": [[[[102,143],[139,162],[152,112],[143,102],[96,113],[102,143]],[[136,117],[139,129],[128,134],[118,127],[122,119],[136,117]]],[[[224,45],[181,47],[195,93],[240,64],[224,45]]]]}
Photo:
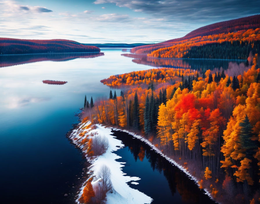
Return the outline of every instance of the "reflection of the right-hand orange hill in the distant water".
{"type": "Polygon", "coordinates": [[[134,58],[132,62],[137,64],[148,65],[152,67],[169,67],[194,69],[205,72],[210,69],[223,68],[227,70],[229,63],[245,63],[245,60],[224,60],[224,59],[171,59],[171,58],[154,58],[147,57],[145,54],[121,54],[125,57],[134,58]]]}

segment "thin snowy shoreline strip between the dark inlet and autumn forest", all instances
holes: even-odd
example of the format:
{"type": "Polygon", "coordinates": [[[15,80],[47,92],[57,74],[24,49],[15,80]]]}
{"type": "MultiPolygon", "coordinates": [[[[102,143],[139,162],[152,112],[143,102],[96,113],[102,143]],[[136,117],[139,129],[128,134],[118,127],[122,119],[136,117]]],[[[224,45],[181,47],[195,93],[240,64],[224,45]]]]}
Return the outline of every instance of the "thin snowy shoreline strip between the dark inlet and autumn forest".
{"type": "MultiPolygon", "coordinates": [[[[118,128],[113,128],[111,127],[112,130],[115,130],[115,131],[122,131],[122,132],[126,132],[128,133],[129,135],[132,135],[134,138],[137,138],[143,142],[145,142],[147,145],[149,145],[151,147],[152,150],[154,150],[155,152],[157,152],[158,154],[160,154],[161,156],[163,156],[167,161],[169,161],[170,163],[172,163],[173,165],[175,165],[176,167],[178,167],[182,172],[184,172],[191,180],[195,181],[196,184],[198,185],[198,187],[200,186],[199,185],[199,180],[192,176],[192,174],[187,171],[187,169],[185,169],[185,167],[183,167],[182,165],[178,164],[176,161],[174,161],[173,159],[169,158],[167,155],[163,154],[154,144],[152,144],[148,139],[144,138],[143,136],[140,136],[140,135],[137,135],[133,132],[130,132],[128,130],[122,130],[122,129],[118,129],[118,128]]],[[[212,195],[210,194],[210,192],[204,188],[203,189],[205,191],[205,194],[207,196],[210,197],[210,199],[212,201],[214,201],[216,203],[216,201],[213,199],[212,195]]]]}

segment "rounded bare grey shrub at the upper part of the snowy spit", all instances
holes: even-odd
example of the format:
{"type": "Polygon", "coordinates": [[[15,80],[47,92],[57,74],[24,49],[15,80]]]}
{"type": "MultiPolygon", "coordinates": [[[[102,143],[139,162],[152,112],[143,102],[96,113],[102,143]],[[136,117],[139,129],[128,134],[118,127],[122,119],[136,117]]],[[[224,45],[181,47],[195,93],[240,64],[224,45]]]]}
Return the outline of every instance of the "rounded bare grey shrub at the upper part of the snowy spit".
{"type": "Polygon", "coordinates": [[[102,155],[108,148],[108,139],[105,136],[96,135],[92,139],[94,156],[102,155]]]}

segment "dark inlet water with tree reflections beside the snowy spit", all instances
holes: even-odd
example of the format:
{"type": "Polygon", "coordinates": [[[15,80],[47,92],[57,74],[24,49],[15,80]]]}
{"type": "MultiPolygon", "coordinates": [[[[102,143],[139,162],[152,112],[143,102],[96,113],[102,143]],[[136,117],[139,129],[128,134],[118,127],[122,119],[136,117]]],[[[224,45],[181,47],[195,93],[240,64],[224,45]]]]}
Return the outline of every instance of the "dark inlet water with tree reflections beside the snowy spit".
{"type": "Polygon", "coordinates": [[[116,151],[126,162],[123,172],[138,176],[138,185],[131,185],[153,198],[154,203],[214,203],[194,181],[165,158],[151,150],[147,144],[127,133],[112,131],[126,146],[116,151]],[[131,154],[129,154],[131,152],[131,154]]]}

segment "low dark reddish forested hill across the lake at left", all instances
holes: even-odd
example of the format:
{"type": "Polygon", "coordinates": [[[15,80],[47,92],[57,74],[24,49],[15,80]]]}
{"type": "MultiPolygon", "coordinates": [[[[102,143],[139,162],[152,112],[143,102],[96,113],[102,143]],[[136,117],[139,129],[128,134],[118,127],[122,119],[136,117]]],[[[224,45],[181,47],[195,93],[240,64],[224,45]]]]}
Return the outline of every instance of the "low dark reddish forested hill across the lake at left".
{"type": "Polygon", "coordinates": [[[0,54],[33,54],[60,52],[100,52],[95,46],[83,45],[72,40],[24,40],[0,38],[0,54]]]}

